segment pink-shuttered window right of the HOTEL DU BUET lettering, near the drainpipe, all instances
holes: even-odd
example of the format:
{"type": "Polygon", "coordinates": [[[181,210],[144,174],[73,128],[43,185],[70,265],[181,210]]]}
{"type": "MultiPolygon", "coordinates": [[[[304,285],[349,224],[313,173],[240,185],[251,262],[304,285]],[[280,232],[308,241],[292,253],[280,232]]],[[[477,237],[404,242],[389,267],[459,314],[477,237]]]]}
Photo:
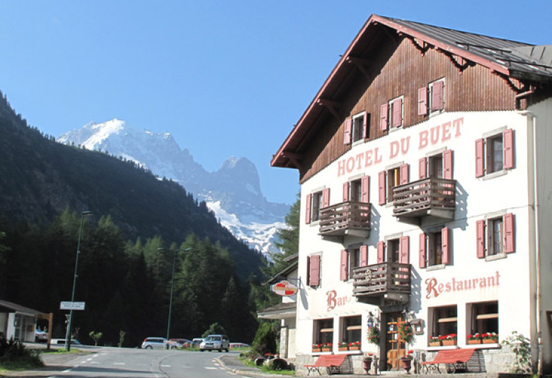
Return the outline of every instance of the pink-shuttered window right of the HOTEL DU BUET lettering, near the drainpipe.
{"type": "Polygon", "coordinates": [[[505,129],[476,140],[476,177],[514,167],[514,131],[505,129]]]}

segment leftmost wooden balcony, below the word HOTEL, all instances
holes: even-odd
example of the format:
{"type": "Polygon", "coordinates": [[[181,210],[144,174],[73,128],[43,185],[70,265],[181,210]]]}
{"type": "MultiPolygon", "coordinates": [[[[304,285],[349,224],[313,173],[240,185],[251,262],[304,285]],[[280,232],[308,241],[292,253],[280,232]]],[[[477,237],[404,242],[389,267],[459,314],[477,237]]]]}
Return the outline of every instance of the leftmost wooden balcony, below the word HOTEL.
{"type": "Polygon", "coordinates": [[[345,235],[369,237],[370,204],[347,201],[321,208],[318,233],[322,237],[345,235]]]}

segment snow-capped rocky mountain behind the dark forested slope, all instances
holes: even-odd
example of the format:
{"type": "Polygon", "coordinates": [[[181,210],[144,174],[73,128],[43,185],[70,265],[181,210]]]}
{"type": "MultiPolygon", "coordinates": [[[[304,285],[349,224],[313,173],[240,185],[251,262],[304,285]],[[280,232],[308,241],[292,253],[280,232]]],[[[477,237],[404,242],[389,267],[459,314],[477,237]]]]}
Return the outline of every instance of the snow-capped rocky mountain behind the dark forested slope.
{"type": "Polygon", "coordinates": [[[102,150],[173,179],[205,201],[238,239],[263,253],[277,251],[275,234],[285,227],[289,206],[265,199],[257,168],[247,158],[231,157],[217,172],[207,172],[171,134],[134,129],[120,119],[91,122],[62,134],[57,141],[102,150]]]}

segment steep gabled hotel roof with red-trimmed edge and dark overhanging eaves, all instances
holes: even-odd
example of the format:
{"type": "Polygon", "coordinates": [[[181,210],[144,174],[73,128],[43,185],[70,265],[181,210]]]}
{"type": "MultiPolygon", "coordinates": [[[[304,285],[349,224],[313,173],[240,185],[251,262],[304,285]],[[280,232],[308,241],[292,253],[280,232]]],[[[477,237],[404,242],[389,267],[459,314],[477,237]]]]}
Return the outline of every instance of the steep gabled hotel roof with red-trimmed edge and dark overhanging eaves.
{"type": "Polygon", "coordinates": [[[381,43],[394,35],[403,35],[424,51],[430,47],[454,57],[457,64],[473,62],[498,75],[552,83],[552,45],[534,46],[437,26],[372,15],[343,54],[330,76],[307,107],[299,122],[273,156],[270,165],[299,167],[298,151],[308,142],[312,127],[323,112],[343,96],[355,77],[369,66],[381,43]]]}

